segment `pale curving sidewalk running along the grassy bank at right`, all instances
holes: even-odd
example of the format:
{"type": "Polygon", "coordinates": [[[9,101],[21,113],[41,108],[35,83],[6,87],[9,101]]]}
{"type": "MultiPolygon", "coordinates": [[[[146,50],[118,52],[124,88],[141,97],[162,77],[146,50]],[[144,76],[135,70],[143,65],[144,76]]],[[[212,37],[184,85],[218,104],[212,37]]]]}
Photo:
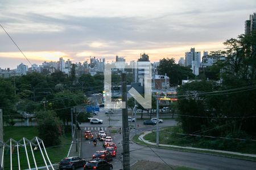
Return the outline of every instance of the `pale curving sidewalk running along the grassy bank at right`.
{"type": "MultiPolygon", "coordinates": [[[[144,136],[149,134],[149,133],[151,133],[151,131],[147,131],[146,133],[140,135],[139,136],[139,140],[144,142],[144,143],[147,143],[149,145],[155,145],[156,146],[156,143],[149,142],[149,141],[146,141],[144,139],[144,136]]],[[[189,149],[189,150],[210,151],[210,152],[218,152],[218,153],[222,153],[222,154],[232,154],[232,155],[239,155],[239,156],[250,156],[250,157],[256,158],[256,155],[253,155],[253,154],[242,154],[240,152],[232,152],[232,151],[210,150],[210,149],[205,149],[205,148],[196,148],[196,147],[189,147],[189,146],[176,146],[176,145],[164,145],[164,144],[159,144],[159,146],[175,147],[175,148],[186,148],[186,149],[189,149]]]]}

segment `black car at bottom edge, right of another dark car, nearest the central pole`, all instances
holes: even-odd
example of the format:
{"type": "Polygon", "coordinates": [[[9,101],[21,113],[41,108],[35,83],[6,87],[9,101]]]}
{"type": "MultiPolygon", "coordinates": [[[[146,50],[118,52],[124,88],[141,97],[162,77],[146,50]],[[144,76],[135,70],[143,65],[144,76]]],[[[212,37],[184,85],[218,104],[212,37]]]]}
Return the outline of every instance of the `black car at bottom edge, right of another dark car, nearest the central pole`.
{"type": "Polygon", "coordinates": [[[84,166],[84,170],[88,169],[113,169],[113,165],[105,160],[89,160],[84,166]]]}

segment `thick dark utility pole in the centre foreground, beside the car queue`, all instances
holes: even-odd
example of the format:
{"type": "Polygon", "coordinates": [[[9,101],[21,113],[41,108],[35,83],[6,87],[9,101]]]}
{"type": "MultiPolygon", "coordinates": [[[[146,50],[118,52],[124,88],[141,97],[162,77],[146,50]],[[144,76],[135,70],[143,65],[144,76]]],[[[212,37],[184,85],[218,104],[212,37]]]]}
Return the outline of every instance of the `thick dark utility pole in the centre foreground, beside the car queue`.
{"type": "Polygon", "coordinates": [[[123,170],[130,170],[130,147],[129,147],[129,124],[128,124],[128,112],[127,112],[126,73],[122,73],[122,103],[125,103],[125,108],[122,109],[123,170]]]}

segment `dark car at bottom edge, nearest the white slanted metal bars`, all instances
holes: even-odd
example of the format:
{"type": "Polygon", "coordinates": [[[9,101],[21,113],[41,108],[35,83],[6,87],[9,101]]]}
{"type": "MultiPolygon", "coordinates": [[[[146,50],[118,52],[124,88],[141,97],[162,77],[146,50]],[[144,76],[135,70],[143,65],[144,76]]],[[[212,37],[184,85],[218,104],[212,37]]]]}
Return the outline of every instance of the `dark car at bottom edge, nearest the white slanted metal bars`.
{"type": "Polygon", "coordinates": [[[79,167],[84,167],[85,163],[85,160],[79,158],[78,156],[67,157],[61,159],[59,169],[76,169],[79,167]]]}

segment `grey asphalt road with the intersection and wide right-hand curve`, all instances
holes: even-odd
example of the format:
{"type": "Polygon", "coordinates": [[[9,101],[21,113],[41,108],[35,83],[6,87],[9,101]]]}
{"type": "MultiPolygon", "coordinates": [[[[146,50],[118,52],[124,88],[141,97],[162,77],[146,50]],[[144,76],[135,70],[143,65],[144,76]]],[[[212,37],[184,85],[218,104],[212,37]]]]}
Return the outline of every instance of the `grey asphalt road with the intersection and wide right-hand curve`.
{"type": "MultiPolygon", "coordinates": [[[[110,125],[115,127],[122,126],[122,117],[121,110],[115,111],[114,115],[111,116],[110,125]]],[[[90,125],[89,123],[81,124],[82,129],[92,130],[94,133],[98,131],[98,129],[104,128],[108,133],[109,126],[109,117],[105,115],[104,110],[101,110],[97,118],[101,118],[104,120],[104,124],[102,125],[90,125]]],[[[151,130],[154,129],[155,126],[144,126],[142,121],[138,121],[139,127],[141,130],[151,130]]],[[[161,126],[172,126],[176,125],[174,120],[164,120],[161,126]]],[[[130,138],[135,135],[134,129],[130,131],[130,138]]],[[[117,158],[113,160],[113,169],[121,169],[122,168],[122,134],[115,134],[112,136],[114,142],[117,144],[117,158]],[[120,159],[119,159],[120,158],[120,159]]],[[[92,142],[86,141],[82,142],[81,145],[81,157],[89,160],[95,151],[102,150],[102,143],[98,142],[97,146],[94,147],[92,142]]],[[[137,145],[134,142],[130,141],[130,164],[134,164],[137,160],[152,160],[154,162],[164,162],[170,165],[177,166],[185,166],[196,169],[256,169],[256,162],[251,162],[247,160],[241,159],[232,159],[225,158],[222,156],[215,156],[209,154],[198,154],[193,152],[183,152],[183,151],[173,151],[173,150],[164,150],[159,148],[149,148],[141,145],[137,145]],[[153,152],[152,150],[155,152],[153,152]],[[161,160],[162,158],[163,160],[161,160]]],[[[82,168],[81,168],[82,169],[82,168]]]]}

